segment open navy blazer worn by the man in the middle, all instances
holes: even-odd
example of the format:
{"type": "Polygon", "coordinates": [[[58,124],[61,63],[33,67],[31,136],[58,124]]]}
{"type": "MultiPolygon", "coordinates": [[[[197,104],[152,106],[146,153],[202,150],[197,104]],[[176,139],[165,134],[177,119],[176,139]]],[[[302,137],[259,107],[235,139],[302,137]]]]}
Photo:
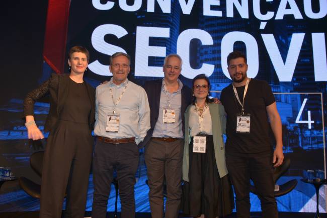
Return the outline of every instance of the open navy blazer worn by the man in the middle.
{"type": "MultiPolygon", "coordinates": [[[[146,136],[143,140],[143,142],[139,145],[139,147],[144,147],[152,137],[153,129],[155,126],[156,121],[158,120],[159,116],[159,105],[160,105],[160,95],[161,95],[161,87],[162,87],[162,79],[160,80],[153,80],[153,81],[147,81],[145,82],[144,89],[147,94],[147,99],[149,101],[150,105],[150,125],[151,128],[147,131],[146,136]]],[[[183,134],[184,134],[184,112],[191,104],[192,100],[192,90],[187,87],[186,85],[183,85],[181,90],[181,102],[182,102],[182,108],[181,108],[181,115],[182,115],[182,123],[183,123],[183,134]]]]}

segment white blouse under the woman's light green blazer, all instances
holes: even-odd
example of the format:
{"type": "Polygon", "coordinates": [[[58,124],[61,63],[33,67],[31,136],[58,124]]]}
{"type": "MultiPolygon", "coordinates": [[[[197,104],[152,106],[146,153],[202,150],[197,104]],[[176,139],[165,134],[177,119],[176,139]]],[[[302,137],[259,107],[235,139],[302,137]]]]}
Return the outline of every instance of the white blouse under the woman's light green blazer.
{"type": "Polygon", "coordinates": [[[206,106],[203,113],[202,128],[199,126],[199,115],[195,109],[195,105],[190,108],[189,116],[189,128],[191,129],[191,135],[194,136],[198,132],[206,132],[208,135],[212,135],[212,123],[209,106],[206,106]]]}

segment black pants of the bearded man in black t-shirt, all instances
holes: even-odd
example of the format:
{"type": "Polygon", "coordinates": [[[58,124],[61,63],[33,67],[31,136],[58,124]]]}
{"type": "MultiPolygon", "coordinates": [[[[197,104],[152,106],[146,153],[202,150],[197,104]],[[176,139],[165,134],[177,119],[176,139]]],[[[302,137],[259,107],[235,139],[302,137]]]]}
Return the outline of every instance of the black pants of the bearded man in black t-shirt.
{"type": "Polygon", "coordinates": [[[262,217],[278,217],[271,156],[249,158],[226,154],[226,164],[236,194],[237,218],[250,217],[250,178],[261,201],[262,217]]]}

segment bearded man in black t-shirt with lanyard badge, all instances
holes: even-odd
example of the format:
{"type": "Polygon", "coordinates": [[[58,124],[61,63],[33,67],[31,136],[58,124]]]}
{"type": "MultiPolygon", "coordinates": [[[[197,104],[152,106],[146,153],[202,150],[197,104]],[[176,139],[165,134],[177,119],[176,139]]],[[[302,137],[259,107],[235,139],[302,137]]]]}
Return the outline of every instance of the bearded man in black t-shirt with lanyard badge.
{"type": "Polygon", "coordinates": [[[236,194],[237,217],[250,217],[250,178],[261,201],[263,217],[278,217],[273,166],[280,166],[284,155],[275,98],[267,82],[247,77],[244,54],[231,52],[227,64],[233,83],[222,90],[220,101],[227,113],[226,163],[236,194]],[[269,125],[276,139],[274,152],[269,125]]]}

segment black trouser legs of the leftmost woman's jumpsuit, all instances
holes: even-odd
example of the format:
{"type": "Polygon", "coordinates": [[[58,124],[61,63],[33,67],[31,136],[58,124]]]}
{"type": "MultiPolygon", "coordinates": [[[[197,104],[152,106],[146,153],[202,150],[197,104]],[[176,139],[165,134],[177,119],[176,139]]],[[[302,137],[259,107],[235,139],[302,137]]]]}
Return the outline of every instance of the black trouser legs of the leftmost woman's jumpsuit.
{"type": "Polygon", "coordinates": [[[60,120],[49,135],[43,158],[40,218],[83,218],[93,151],[88,124],[60,120]]]}

